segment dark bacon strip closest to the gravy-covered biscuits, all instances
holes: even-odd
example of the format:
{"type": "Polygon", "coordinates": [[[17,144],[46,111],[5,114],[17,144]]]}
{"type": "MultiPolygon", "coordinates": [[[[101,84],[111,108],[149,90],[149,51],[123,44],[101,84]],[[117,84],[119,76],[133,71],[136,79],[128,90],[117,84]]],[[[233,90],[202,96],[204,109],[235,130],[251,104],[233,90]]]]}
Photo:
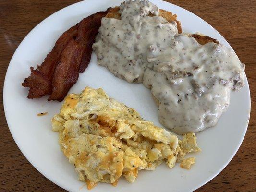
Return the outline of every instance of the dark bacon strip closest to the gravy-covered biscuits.
{"type": "Polygon", "coordinates": [[[110,8],[105,12],[92,14],[78,24],[78,36],[75,41],[69,42],[61,54],[60,63],[52,79],[52,94],[48,101],[62,101],[77,82],[79,72],[85,71],[91,59],[92,44],[98,34],[101,18],[106,16],[109,10],[110,8]]]}

